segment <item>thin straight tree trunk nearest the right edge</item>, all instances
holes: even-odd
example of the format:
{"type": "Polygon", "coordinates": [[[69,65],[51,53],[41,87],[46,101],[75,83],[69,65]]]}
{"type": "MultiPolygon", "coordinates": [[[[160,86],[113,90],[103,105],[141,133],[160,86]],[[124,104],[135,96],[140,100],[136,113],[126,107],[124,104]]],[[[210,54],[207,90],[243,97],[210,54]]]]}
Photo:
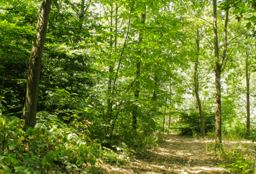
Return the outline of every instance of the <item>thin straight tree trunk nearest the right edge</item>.
{"type": "Polygon", "coordinates": [[[249,77],[249,62],[248,62],[248,52],[246,49],[246,111],[247,111],[247,122],[246,122],[246,136],[250,136],[250,77],[249,77]]]}

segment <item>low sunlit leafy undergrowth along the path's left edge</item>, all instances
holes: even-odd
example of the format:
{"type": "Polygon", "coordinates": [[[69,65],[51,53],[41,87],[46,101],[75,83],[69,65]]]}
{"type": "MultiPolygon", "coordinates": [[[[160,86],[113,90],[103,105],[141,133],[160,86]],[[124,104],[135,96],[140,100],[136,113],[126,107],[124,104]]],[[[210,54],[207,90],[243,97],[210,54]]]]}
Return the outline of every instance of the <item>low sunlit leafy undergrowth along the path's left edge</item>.
{"type": "Polygon", "coordinates": [[[96,173],[100,163],[126,162],[142,148],[155,146],[162,137],[160,133],[143,137],[139,132],[133,139],[133,148],[124,142],[107,148],[99,139],[90,138],[91,125],[86,120],[67,125],[58,116],[40,112],[36,127],[23,131],[22,119],[1,115],[0,173],[96,173]]]}

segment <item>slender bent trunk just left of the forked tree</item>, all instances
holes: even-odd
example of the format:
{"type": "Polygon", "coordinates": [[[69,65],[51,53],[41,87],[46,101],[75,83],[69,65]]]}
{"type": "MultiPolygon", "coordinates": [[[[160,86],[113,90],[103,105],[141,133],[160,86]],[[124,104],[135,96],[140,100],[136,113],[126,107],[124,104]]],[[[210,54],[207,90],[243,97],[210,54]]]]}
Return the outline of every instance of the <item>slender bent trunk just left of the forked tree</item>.
{"type": "Polygon", "coordinates": [[[202,106],[201,106],[201,101],[199,97],[199,83],[198,83],[198,62],[199,62],[199,30],[197,34],[197,39],[196,39],[196,51],[197,51],[197,56],[196,56],[196,62],[195,62],[195,71],[194,71],[194,85],[195,85],[195,94],[196,94],[196,100],[198,102],[198,110],[199,110],[199,115],[200,115],[200,122],[201,122],[201,133],[202,137],[205,136],[205,129],[204,129],[204,116],[202,115],[202,106]]]}

